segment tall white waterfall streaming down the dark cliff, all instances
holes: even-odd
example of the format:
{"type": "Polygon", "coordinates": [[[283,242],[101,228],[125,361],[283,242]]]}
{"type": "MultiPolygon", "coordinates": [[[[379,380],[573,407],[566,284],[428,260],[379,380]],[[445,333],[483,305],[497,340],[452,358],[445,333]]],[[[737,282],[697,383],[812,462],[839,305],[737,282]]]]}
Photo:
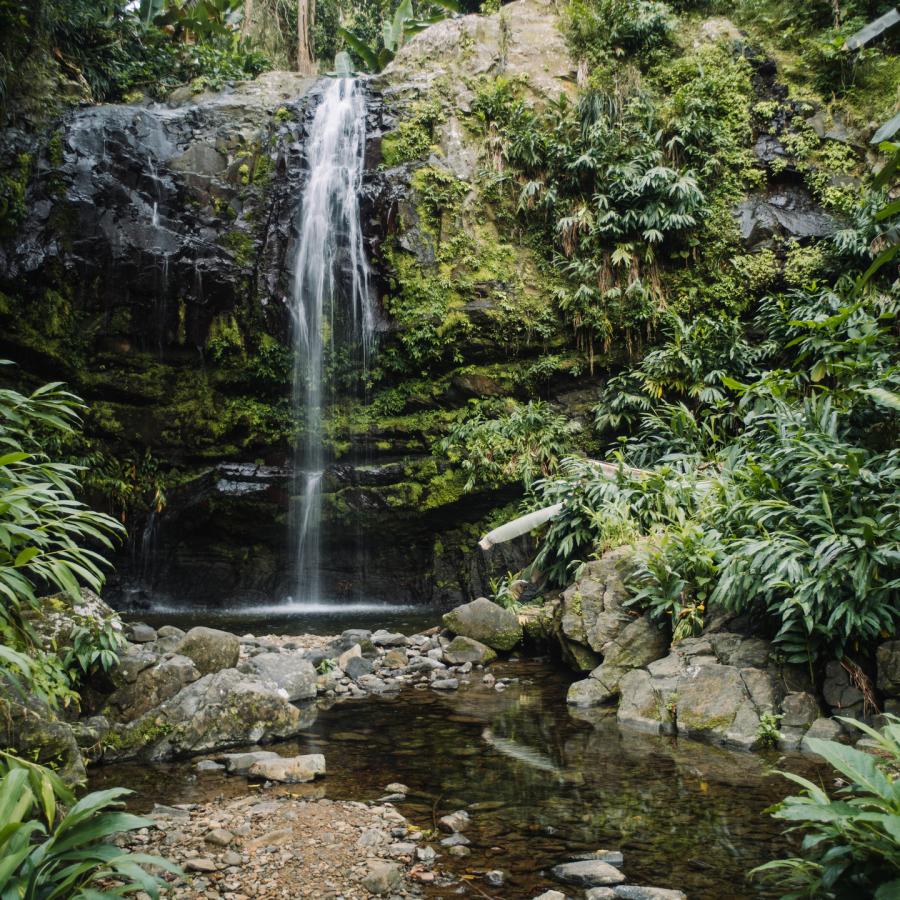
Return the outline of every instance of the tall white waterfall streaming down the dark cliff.
{"type": "Polygon", "coordinates": [[[303,423],[292,515],[299,603],[321,600],[325,366],[340,343],[364,375],[372,349],[374,313],[359,213],[365,143],[366,101],[358,82],[331,79],[307,139],[291,297],[294,412],[303,423]]]}

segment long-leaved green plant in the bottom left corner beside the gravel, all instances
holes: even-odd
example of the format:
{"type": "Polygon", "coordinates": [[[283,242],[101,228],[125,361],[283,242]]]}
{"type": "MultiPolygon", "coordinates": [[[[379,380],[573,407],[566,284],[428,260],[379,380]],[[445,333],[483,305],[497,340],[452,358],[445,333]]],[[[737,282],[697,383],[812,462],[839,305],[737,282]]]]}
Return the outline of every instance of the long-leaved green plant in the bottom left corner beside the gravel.
{"type": "Polygon", "coordinates": [[[110,840],[149,819],[119,811],[123,788],[75,799],[54,772],[0,753],[0,893],[4,897],[92,898],[145,891],[163,882],[144,866],[179,872],[164,859],[110,840]]]}

